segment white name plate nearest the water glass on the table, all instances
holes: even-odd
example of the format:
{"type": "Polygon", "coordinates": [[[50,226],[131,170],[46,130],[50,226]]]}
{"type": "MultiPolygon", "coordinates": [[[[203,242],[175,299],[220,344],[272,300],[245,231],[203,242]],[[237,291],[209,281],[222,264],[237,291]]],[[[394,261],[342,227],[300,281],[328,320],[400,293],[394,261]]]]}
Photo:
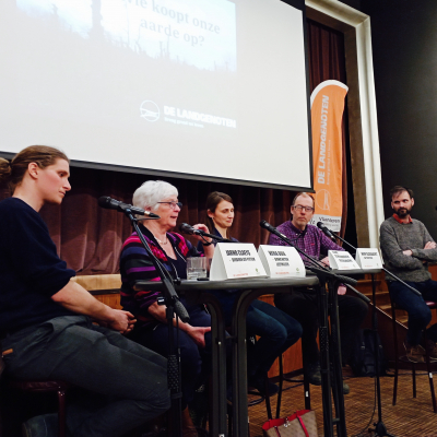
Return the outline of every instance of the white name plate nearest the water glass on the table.
{"type": "Polygon", "coordinates": [[[238,277],[267,277],[257,249],[251,243],[218,243],[212,257],[211,281],[238,277]]]}

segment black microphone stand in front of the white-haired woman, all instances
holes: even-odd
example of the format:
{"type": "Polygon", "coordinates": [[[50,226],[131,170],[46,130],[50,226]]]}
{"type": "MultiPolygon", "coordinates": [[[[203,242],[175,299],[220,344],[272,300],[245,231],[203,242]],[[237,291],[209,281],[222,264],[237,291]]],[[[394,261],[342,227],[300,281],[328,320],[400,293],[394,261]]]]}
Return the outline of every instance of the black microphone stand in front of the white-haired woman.
{"type": "MultiPolygon", "coordinates": [[[[166,269],[163,267],[161,261],[153,255],[147,241],[145,240],[140,227],[138,226],[139,220],[133,216],[132,211],[128,208],[123,210],[123,213],[130,220],[133,229],[135,231],[138,237],[140,238],[145,251],[152,260],[157,274],[161,277],[164,286],[164,298],[158,302],[160,305],[166,305],[166,319],[168,326],[168,356],[167,356],[167,379],[168,388],[170,389],[172,397],[172,408],[169,411],[169,425],[172,427],[173,437],[181,437],[182,435],[182,415],[181,415],[181,378],[180,378],[180,357],[179,357],[179,346],[175,345],[174,342],[174,316],[180,318],[184,322],[188,322],[190,317],[180,303],[179,296],[176,294],[175,287],[173,285],[173,279],[166,269]]],[[[142,218],[144,220],[144,218],[142,218]]]]}

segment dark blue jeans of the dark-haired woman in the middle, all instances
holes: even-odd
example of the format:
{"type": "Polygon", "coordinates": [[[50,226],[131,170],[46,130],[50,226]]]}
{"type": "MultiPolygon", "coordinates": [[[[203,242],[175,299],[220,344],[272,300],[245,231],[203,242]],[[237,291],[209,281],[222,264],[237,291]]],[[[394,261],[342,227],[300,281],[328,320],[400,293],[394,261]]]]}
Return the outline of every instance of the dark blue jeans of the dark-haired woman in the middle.
{"type": "MultiPolygon", "coordinates": [[[[238,292],[211,291],[221,302],[226,326],[231,324],[234,302],[238,292]]],[[[246,316],[248,335],[260,339],[248,347],[247,374],[249,377],[265,375],[277,356],[284,353],[302,335],[300,324],[273,305],[255,299],[246,316]]]]}

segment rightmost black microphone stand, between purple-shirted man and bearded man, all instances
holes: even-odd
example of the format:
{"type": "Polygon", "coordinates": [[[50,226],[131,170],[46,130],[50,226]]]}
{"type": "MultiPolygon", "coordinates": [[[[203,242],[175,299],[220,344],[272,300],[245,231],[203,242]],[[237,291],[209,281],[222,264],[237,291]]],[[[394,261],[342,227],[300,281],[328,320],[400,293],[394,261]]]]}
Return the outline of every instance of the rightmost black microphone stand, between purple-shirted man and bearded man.
{"type": "MultiPolygon", "coordinates": [[[[323,229],[322,229],[323,231],[323,229]]],[[[334,235],[336,238],[339,238],[341,241],[343,241],[345,245],[352,248],[352,250],[356,250],[356,247],[352,246],[350,243],[347,243],[345,239],[342,237],[339,237],[335,234],[334,235]]],[[[390,273],[388,270],[382,269],[385,272],[389,273],[392,277],[397,279],[404,285],[406,285],[409,288],[411,288],[414,293],[420,294],[415,288],[411,287],[410,285],[405,284],[403,281],[401,281],[399,277],[397,277],[394,274],[390,273]]],[[[379,346],[378,346],[378,315],[376,312],[376,284],[375,284],[375,274],[371,273],[371,299],[373,299],[373,310],[371,310],[371,330],[374,332],[374,359],[375,359],[375,367],[376,367],[376,393],[377,393],[377,402],[378,402],[378,422],[374,423],[375,429],[369,428],[369,433],[375,433],[375,436],[379,437],[395,437],[393,434],[389,434],[387,432],[387,427],[385,423],[382,422],[382,404],[381,404],[381,385],[380,385],[380,376],[379,376],[379,346]]]]}

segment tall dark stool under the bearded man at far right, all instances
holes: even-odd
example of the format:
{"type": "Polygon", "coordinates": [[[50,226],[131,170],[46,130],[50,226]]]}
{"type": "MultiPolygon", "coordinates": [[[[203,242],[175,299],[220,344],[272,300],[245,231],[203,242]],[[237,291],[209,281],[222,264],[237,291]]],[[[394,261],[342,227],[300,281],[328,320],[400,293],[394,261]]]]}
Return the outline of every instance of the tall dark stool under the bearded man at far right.
{"type": "MultiPolygon", "coordinates": [[[[393,338],[394,338],[394,387],[393,387],[393,405],[397,403],[397,398],[398,398],[398,376],[399,376],[399,362],[408,363],[412,367],[412,376],[413,376],[413,398],[416,398],[416,366],[418,363],[412,363],[410,362],[406,356],[399,356],[399,351],[398,351],[398,331],[397,331],[397,317],[395,317],[395,311],[397,306],[394,302],[391,299],[391,316],[392,316],[392,326],[393,326],[393,338]]],[[[428,306],[429,309],[437,309],[437,303],[435,302],[426,302],[426,305],[428,306]]],[[[426,332],[424,332],[424,339],[426,342],[426,332]]],[[[425,347],[426,350],[426,347],[425,347]]],[[[433,373],[432,373],[432,364],[428,355],[428,351],[426,351],[425,355],[425,363],[426,363],[426,369],[428,373],[428,380],[429,380],[429,388],[430,388],[430,397],[433,401],[433,409],[434,413],[437,413],[437,403],[436,403],[436,394],[434,390],[434,382],[433,382],[433,373]]]]}

